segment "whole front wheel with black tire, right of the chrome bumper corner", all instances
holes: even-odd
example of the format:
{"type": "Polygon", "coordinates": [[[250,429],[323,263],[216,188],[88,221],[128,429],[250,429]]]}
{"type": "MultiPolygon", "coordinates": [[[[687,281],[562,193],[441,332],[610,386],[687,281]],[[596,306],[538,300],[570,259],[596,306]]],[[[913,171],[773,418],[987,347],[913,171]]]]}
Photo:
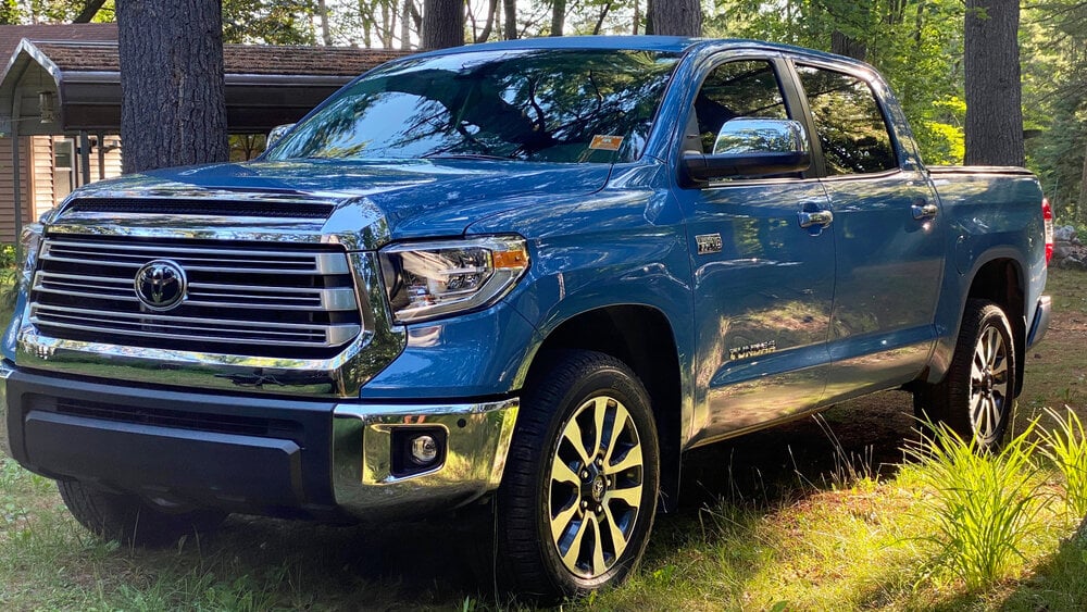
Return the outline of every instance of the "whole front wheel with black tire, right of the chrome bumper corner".
{"type": "Polygon", "coordinates": [[[541,359],[498,491],[497,541],[505,588],[554,602],[637,566],[657,511],[660,447],[649,395],[626,364],[591,351],[541,359]]]}

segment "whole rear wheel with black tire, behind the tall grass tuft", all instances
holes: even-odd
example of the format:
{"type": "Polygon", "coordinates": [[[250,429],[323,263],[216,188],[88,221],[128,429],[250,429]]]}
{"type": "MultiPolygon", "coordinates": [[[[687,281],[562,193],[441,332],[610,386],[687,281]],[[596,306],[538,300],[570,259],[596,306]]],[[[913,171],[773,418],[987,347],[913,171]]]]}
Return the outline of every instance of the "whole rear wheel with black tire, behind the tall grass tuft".
{"type": "Polygon", "coordinates": [[[979,452],[999,450],[1012,420],[1015,360],[1004,311],[987,300],[969,300],[951,367],[944,382],[914,392],[914,411],[973,440],[979,452]]]}

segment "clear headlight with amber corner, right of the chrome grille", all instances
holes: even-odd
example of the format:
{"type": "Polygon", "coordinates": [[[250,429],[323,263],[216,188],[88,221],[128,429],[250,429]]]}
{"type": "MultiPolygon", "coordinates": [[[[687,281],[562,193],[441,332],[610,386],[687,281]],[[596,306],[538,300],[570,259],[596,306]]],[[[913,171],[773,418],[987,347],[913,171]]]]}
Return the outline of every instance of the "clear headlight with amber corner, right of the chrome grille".
{"type": "Polygon", "coordinates": [[[380,259],[397,323],[490,305],[528,270],[520,236],[392,245],[380,259]]]}

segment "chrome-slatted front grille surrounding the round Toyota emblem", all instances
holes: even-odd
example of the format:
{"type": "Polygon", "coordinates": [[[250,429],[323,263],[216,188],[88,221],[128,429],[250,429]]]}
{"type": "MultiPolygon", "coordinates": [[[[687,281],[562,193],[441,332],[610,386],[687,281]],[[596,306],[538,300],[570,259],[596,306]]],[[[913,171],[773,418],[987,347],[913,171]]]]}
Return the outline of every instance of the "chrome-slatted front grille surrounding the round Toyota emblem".
{"type": "Polygon", "coordinates": [[[261,357],[324,357],[362,332],[347,253],[335,246],[47,237],[30,322],[64,339],[261,357]],[[177,308],[135,290],[154,260],[185,270],[177,308]]]}

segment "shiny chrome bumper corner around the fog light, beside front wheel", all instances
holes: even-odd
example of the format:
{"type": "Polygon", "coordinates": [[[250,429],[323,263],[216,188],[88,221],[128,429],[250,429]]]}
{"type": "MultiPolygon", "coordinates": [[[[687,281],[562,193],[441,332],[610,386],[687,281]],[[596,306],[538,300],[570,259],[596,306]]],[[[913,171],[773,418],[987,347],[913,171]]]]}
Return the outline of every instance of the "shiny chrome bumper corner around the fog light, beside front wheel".
{"type": "MultiPolygon", "coordinates": [[[[517,419],[517,399],[467,404],[339,404],[333,420],[336,503],[366,519],[396,510],[427,512],[463,505],[498,488],[517,419]],[[395,430],[445,433],[445,460],[436,467],[393,474],[395,430]]],[[[410,433],[410,432],[409,432],[410,433]]]]}

